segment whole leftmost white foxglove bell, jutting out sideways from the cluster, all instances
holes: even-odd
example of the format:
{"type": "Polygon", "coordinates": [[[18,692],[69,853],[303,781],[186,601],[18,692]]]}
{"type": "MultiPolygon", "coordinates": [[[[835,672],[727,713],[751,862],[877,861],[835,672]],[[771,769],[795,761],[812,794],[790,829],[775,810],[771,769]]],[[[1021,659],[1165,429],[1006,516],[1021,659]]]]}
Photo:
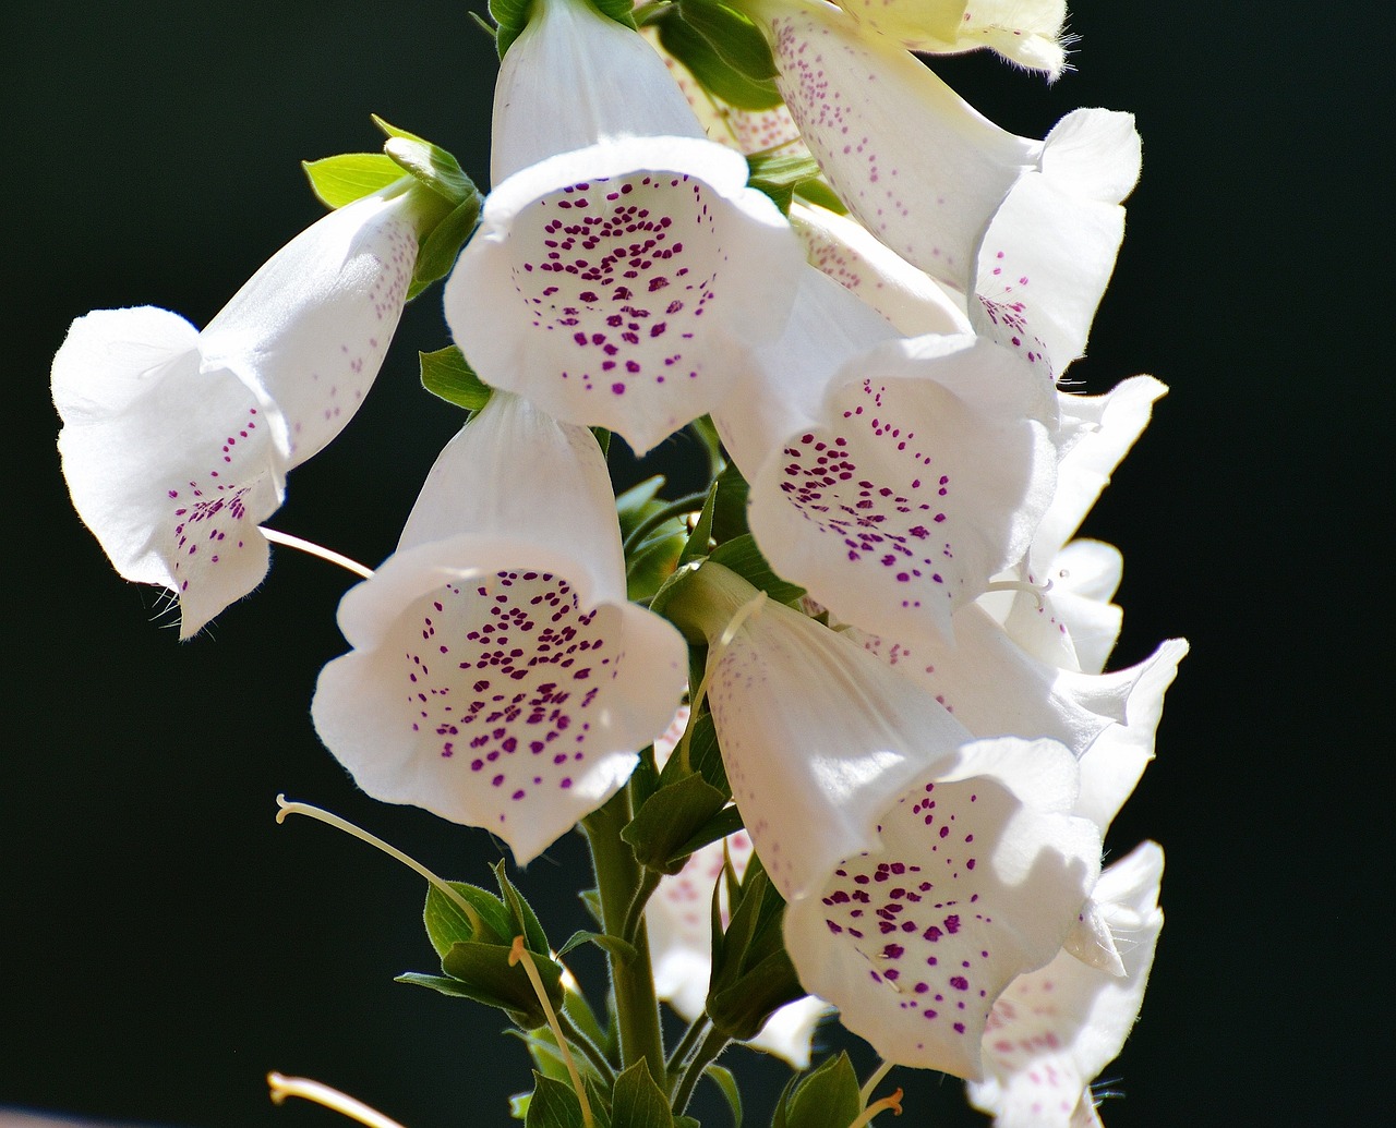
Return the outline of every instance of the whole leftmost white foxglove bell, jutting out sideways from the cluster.
{"type": "Polygon", "coordinates": [[[422,201],[403,178],[276,252],[202,332],[98,310],[53,358],[59,450],[116,570],[179,600],[188,639],[267,574],[257,526],[349,422],[392,340],[422,201]]]}

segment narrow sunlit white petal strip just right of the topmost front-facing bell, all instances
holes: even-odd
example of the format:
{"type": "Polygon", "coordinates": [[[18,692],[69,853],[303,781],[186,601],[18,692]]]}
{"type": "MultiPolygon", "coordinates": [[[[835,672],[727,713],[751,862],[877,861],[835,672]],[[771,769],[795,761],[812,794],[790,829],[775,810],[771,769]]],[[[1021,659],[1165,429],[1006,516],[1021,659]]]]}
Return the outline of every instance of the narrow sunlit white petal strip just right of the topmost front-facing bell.
{"type": "Polygon", "coordinates": [[[790,226],[804,241],[811,264],[857,294],[909,337],[921,333],[967,333],[965,300],[900,258],[861,223],[799,201],[790,226]]]}

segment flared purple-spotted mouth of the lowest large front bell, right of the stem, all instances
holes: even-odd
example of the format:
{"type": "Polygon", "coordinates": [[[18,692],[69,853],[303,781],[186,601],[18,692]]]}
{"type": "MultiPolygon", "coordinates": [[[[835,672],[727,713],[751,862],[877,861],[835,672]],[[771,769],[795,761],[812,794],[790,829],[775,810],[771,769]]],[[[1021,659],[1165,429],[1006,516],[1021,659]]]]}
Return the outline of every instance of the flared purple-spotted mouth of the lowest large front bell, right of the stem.
{"type": "Polygon", "coordinates": [[[1061,745],[1001,739],[913,784],[879,848],[786,908],[800,982],[884,1060],[979,1076],[990,1007],[1060,950],[1099,873],[1075,775],[1061,745]]]}

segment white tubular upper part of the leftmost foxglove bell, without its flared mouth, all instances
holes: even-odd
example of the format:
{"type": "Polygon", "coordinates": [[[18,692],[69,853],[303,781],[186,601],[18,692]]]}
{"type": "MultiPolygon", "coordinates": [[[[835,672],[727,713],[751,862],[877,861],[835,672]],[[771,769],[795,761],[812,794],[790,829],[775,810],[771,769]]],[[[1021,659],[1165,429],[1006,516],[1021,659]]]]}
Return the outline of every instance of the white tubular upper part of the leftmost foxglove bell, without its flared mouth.
{"type": "Polygon", "coordinates": [[[233,372],[276,418],[288,468],[345,428],[383,367],[417,258],[415,212],[401,184],[331,212],[200,335],[204,371],[233,372]]]}

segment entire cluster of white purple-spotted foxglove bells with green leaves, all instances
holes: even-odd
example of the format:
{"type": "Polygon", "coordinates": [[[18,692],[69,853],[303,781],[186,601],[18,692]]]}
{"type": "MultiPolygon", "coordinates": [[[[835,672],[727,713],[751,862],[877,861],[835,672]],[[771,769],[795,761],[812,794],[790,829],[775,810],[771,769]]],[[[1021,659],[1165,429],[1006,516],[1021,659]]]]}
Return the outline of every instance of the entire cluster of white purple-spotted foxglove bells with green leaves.
{"type": "MultiPolygon", "coordinates": [[[[78,513],[195,634],[262,580],[288,471],[444,277],[450,378],[423,379],[470,416],[345,595],[311,712],[369,795],[518,864],[585,828],[617,1032],[568,1004],[535,1058],[582,1053],[616,1102],[645,1062],[683,1113],[729,1042],[804,1069],[836,1008],[998,1124],[1096,1122],[1161,922],[1159,848],[1103,871],[1103,841],[1187,651],[1104,672],[1121,558],[1075,538],[1164,392],[1061,390],[1132,119],[1015,137],[919,57],[1055,78],[1060,0],[498,7],[483,199],[385,127],[384,155],[313,174],[335,211],[205,329],[74,322],[53,393],[78,513]],[[642,456],[684,428],[711,488],[617,501],[610,434],[642,456]],[[667,1060],[645,991],[694,1023],[667,1060]]],[[[535,1030],[546,998],[500,1001],[462,951],[508,909],[557,969],[500,880],[497,910],[433,892],[465,923],[429,902],[445,975],[416,982],[535,1030]]]]}

